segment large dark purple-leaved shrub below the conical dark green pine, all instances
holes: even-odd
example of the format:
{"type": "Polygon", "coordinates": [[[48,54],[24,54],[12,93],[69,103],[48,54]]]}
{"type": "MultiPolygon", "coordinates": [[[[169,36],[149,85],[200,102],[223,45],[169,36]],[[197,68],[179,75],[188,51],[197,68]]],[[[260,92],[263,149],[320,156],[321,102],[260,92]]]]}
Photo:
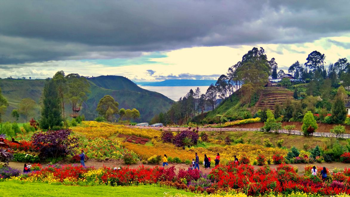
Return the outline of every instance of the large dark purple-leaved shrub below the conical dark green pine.
{"type": "Polygon", "coordinates": [[[35,133],[31,139],[41,158],[65,157],[73,153],[78,139],[70,136],[70,129],[35,133]]]}

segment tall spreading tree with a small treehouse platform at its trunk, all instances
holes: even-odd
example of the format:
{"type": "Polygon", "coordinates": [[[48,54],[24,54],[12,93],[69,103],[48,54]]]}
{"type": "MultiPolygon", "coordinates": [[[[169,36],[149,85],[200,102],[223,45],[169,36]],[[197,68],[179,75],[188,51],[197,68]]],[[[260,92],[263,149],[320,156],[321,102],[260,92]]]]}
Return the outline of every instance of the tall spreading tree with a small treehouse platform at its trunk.
{"type": "Polygon", "coordinates": [[[80,110],[83,101],[87,99],[86,93],[90,92],[90,84],[85,77],[74,73],[67,75],[65,78],[68,86],[66,98],[72,106],[73,115],[76,115],[76,110],[80,110]]]}

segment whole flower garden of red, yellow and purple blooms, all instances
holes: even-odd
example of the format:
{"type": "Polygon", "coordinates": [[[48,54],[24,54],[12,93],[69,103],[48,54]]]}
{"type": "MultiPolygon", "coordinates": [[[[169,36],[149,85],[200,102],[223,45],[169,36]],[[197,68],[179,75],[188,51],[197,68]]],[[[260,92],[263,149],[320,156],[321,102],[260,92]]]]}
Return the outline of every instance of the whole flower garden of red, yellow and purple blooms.
{"type": "MultiPolygon", "coordinates": [[[[323,196],[350,194],[350,168],[337,171],[327,169],[327,180],[322,181],[320,174],[311,176],[312,166],[306,166],[302,176],[298,169],[288,163],[322,163],[324,157],[320,149],[309,152],[295,147],[272,147],[265,140],[263,145],[233,143],[230,139],[217,140],[196,129],[181,132],[140,129],[103,122],[84,121],[77,127],[67,130],[37,131],[17,135],[14,143],[4,140],[13,154],[12,161],[40,163],[45,162],[53,153],[47,151],[57,145],[65,161],[78,162],[76,154],[84,150],[89,159],[121,160],[126,164],[141,161],[151,167],[138,164],[138,167],[121,167],[114,170],[109,167],[82,167],[76,164],[33,164],[30,173],[20,174],[9,167],[0,169],[1,181],[40,182],[48,184],[80,186],[131,186],[159,185],[176,188],[201,195],[227,196],[323,196]],[[51,141],[50,141],[51,140],[51,141]],[[147,144],[146,144],[147,142],[147,144]],[[167,154],[170,163],[190,164],[194,153],[214,161],[220,153],[219,166],[204,174],[198,170],[162,168],[157,164],[161,155],[167,154]],[[237,155],[240,163],[233,163],[237,155]],[[277,165],[271,168],[268,164],[277,165]],[[155,166],[152,166],[154,165],[155,166]],[[254,167],[258,165],[260,167],[254,167]]],[[[270,142],[271,143],[271,142],[270,142]]],[[[327,150],[327,149],[325,149],[327,150]]],[[[350,162],[350,153],[339,155],[339,161],[350,162]]],[[[171,165],[170,165],[171,166],[171,165]]],[[[322,170],[318,166],[318,172],[322,170]]],[[[164,194],[167,196],[166,194],[164,194]]]]}

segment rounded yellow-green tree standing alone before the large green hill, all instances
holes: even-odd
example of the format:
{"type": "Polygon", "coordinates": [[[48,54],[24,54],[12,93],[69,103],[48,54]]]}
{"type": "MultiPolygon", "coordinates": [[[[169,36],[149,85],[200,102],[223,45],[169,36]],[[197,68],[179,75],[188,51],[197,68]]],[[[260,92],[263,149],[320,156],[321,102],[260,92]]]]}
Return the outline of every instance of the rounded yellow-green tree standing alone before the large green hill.
{"type": "Polygon", "coordinates": [[[119,112],[118,106],[119,103],[114,101],[112,96],[105,95],[98,102],[96,111],[98,111],[99,115],[105,117],[107,121],[111,121],[114,118],[114,114],[119,112]]]}

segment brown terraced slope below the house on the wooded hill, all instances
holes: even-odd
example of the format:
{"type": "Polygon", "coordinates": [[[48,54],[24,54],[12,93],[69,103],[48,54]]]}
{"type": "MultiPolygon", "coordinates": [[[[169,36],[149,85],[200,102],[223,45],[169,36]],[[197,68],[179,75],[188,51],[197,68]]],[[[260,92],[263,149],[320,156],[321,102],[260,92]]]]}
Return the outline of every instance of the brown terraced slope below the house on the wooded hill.
{"type": "Polygon", "coordinates": [[[283,105],[287,99],[293,99],[293,91],[281,87],[265,87],[255,107],[273,110],[276,104],[283,105]]]}

